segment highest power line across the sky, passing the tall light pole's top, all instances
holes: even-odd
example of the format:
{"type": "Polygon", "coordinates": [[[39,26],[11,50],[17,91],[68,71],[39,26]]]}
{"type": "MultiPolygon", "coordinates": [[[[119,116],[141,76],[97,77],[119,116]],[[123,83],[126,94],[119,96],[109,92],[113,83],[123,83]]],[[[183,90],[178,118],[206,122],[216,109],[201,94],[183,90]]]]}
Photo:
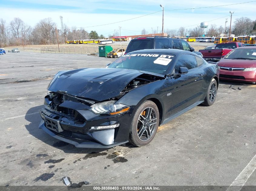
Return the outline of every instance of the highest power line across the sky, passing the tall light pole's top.
{"type": "MultiPolygon", "coordinates": [[[[229,5],[217,5],[217,6],[210,6],[210,7],[185,8],[185,9],[167,9],[165,11],[179,11],[179,10],[192,10],[192,9],[202,9],[202,8],[224,7],[224,6],[240,5],[240,4],[251,3],[251,2],[256,2],[256,1],[248,1],[248,2],[243,2],[243,3],[234,3],[234,4],[229,4],[229,5]]],[[[145,14],[145,15],[142,15],[142,16],[139,16],[139,17],[126,19],[126,20],[123,20],[123,21],[117,21],[117,22],[114,22],[114,23],[101,24],[101,25],[95,25],[95,26],[89,26],[89,27],[100,27],[100,26],[105,26],[105,25],[109,25],[109,24],[121,23],[121,22],[124,22],[124,21],[130,21],[130,20],[133,20],[133,19],[145,17],[145,16],[148,16],[148,15],[151,15],[151,14],[155,14],[155,13],[158,13],[158,12],[162,12],[162,10],[161,11],[156,11],[154,13],[145,14]]],[[[88,28],[88,27],[77,27],[77,28],[88,28]]]]}

